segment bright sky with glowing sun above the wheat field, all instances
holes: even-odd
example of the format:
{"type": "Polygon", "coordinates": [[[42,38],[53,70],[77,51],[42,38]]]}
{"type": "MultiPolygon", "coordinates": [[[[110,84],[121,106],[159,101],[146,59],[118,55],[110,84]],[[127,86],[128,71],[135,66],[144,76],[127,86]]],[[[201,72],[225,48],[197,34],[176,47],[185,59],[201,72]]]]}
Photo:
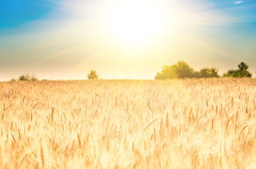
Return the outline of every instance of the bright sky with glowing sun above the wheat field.
{"type": "Polygon", "coordinates": [[[0,80],[153,79],[186,61],[256,72],[256,1],[0,0],[0,80]]]}

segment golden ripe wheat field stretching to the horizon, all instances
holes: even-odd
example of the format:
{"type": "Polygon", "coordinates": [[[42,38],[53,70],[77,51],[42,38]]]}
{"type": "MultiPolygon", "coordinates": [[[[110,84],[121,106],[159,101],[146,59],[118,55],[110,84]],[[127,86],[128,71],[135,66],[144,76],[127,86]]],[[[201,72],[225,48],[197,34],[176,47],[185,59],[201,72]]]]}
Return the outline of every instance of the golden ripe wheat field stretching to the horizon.
{"type": "Polygon", "coordinates": [[[256,79],[0,82],[0,168],[256,168],[256,79]]]}

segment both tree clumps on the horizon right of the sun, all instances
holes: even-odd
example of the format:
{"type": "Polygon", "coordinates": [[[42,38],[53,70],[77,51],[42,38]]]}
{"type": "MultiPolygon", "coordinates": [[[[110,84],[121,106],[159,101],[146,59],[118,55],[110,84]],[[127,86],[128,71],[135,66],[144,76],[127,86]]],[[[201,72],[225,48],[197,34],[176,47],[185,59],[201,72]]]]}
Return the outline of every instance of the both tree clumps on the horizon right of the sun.
{"type": "MultiPolygon", "coordinates": [[[[236,70],[228,70],[223,77],[252,77],[248,71],[248,64],[241,62],[236,70]]],[[[164,65],[161,72],[156,73],[155,79],[174,79],[174,78],[202,78],[202,77],[221,77],[218,68],[202,68],[199,71],[194,70],[185,61],[178,61],[174,65],[164,65]]]]}

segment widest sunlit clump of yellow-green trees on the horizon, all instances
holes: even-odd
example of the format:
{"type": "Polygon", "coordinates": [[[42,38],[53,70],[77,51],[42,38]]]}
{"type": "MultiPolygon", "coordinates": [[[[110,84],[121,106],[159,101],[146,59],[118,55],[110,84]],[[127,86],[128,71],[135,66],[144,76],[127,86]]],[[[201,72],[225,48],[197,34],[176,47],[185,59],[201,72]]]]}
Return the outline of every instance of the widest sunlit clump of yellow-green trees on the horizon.
{"type": "Polygon", "coordinates": [[[157,73],[155,79],[192,78],[192,77],[219,77],[217,68],[202,68],[195,71],[185,61],[178,61],[174,65],[165,65],[161,73],[157,73]]]}

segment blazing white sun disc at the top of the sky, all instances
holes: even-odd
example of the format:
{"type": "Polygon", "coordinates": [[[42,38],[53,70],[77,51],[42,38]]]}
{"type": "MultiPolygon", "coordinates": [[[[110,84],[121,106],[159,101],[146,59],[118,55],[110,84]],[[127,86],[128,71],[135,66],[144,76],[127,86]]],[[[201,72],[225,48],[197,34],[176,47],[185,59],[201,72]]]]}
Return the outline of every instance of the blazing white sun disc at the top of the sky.
{"type": "Polygon", "coordinates": [[[121,1],[108,13],[110,35],[127,44],[146,43],[161,32],[163,13],[151,1],[121,1]]]}

